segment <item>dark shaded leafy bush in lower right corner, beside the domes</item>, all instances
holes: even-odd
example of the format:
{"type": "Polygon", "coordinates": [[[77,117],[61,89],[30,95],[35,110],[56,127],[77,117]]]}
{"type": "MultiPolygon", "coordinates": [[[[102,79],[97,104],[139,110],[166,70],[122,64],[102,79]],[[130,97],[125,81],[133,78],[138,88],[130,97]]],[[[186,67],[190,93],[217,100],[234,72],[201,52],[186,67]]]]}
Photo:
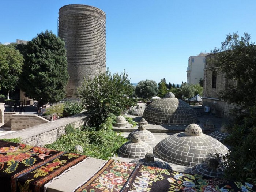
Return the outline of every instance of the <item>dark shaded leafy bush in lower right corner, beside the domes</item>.
{"type": "Polygon", "coordinates": [[[225,177],[231,180],[256,184],[256,106],[240,125],[234,125],[231,134],[224,140],[230,145],[229,153],[222,156],[225,177]]]}

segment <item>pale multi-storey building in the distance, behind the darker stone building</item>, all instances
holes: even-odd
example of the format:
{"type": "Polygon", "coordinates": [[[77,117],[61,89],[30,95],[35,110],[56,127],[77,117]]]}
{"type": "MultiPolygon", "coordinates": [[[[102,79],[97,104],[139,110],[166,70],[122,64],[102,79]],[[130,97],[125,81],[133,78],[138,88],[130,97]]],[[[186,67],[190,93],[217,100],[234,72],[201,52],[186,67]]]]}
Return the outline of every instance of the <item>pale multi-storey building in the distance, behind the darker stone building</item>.
{"type": "Polygon", "coordinates": [[[210,53],[200,53],[197,56],[190,56],[188,58],[187,67],[187,83],[196,84],[200,79],[204,78],[204,63],[206,56],[210,53]]]}

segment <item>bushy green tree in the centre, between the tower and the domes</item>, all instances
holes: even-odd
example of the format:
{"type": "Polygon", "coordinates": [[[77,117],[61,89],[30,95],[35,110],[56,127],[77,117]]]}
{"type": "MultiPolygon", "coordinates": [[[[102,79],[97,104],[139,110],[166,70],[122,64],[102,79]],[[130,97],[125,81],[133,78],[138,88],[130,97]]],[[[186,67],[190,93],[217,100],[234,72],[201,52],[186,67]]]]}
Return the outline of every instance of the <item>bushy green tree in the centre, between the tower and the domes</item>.
{"type": "Polygon", "coordinates": [[[118,116],[128,106],[135,106],[136,102],[131,96],[133,85],[124,71],[121,74],[109,70],[104,74],[95,76],[94,79],[86,79],[78,89],[79,98],[84,106],[87,106],[87,123],[91,127],[99,125],[112,114],[118,116]]]}

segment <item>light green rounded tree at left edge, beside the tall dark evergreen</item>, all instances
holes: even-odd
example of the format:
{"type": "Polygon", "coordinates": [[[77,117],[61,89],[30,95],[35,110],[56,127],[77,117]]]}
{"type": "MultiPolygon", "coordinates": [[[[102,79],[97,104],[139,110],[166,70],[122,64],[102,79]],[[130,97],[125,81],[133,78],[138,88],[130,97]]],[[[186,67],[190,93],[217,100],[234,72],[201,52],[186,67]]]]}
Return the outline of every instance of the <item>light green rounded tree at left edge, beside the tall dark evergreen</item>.
{"type": "Polygon", "coordinates": [[[0,90],[4,87],[9,99],[10,91],[17,86],[22,72],[23,56],[12,46],[0,44],[0,90]]]}

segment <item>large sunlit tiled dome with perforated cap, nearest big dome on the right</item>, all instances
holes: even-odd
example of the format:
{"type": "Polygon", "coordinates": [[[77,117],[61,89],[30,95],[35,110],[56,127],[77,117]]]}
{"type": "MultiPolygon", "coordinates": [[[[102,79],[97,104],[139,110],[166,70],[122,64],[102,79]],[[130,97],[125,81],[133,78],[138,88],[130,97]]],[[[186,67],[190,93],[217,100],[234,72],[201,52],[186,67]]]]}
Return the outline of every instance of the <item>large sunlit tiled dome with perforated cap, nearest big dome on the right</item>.
{"type": "Polygon", "coordinates": [[[202,133],[197,124],[190,124],[185,132],[171,135],[154,147],[154,155],[163,161],[177,165],[195,166],[226,154],[227,147],[211,136],[202,133]]]}

